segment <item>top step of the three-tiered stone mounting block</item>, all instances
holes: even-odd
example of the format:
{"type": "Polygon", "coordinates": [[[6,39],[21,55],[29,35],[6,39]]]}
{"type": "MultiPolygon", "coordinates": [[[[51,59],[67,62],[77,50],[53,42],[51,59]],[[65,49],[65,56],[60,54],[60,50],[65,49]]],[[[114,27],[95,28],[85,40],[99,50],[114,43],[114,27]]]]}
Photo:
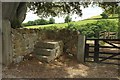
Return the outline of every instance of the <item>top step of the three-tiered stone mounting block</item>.
{"type": "Polygon", "coordinates": [[[37,48],[49,48],[53,49],[59,46],[60,41],[44,41],[44,42],[38,42],[35,47],[37,48]]]}

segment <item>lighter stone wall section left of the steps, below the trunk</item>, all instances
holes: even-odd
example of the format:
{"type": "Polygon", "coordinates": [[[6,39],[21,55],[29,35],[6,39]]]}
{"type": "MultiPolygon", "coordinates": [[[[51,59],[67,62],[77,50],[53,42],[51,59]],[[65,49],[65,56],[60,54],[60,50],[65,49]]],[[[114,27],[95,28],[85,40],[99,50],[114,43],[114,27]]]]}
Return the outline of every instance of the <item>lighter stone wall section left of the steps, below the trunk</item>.
{"type": "Polygon", "coordinates": [[[44,33],[34,29],[12,29],[13,61],[20,62],[24,55],[34,50],[38,41],[46,39],[44,33]]]}

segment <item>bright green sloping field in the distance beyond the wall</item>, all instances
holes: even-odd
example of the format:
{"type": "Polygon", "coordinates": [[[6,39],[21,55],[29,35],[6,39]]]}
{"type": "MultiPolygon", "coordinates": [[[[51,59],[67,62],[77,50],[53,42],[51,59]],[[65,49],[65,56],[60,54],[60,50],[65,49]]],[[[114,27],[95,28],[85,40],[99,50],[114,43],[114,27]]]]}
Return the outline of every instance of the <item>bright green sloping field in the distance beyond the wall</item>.
{"type": "MultiPolygon", "coordinates": [[[[87,23],[95,23],[97,20],[103,20],[101,16],[93,16],[91,18],[81,20],[81,21],[76,21],[76,22],[70,22],[76,25],[84,25],[87,23]]],[[[106,20],[113,20],[113,21],[118,21],[118,18],[115,17],[109,17],[106,20]]],[[[50,27],[50,26],[56,26],[57,28],[65,28],[68,26],[68,23],[59,23],[59,24],[48,24],[48,25],[35,25],[35,26],[26,26],[24,28],[44,28],[44,27],[50,27]]]]}

